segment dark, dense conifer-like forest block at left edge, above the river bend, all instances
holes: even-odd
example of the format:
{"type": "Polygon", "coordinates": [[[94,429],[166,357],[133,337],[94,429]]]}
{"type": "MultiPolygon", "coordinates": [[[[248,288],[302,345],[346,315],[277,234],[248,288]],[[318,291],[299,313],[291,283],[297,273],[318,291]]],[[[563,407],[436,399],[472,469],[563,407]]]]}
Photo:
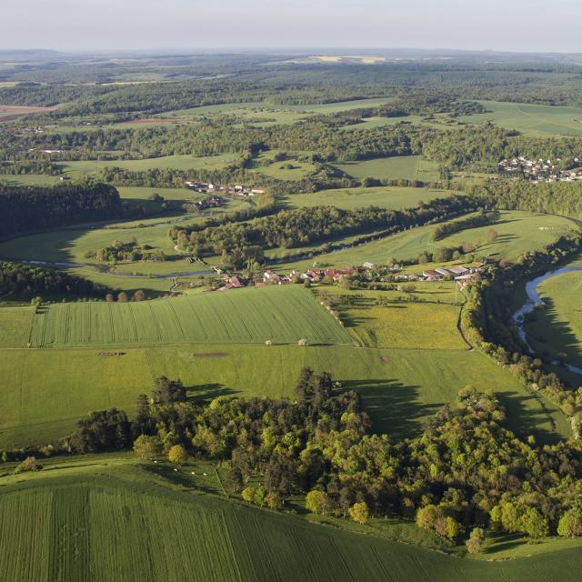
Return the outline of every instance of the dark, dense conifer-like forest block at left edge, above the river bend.
{"type": "Polygon", "coordinates": [[[123,210],[117,190],[105,184],[0,185],[0,236],[117,218],[123,210]]]}

